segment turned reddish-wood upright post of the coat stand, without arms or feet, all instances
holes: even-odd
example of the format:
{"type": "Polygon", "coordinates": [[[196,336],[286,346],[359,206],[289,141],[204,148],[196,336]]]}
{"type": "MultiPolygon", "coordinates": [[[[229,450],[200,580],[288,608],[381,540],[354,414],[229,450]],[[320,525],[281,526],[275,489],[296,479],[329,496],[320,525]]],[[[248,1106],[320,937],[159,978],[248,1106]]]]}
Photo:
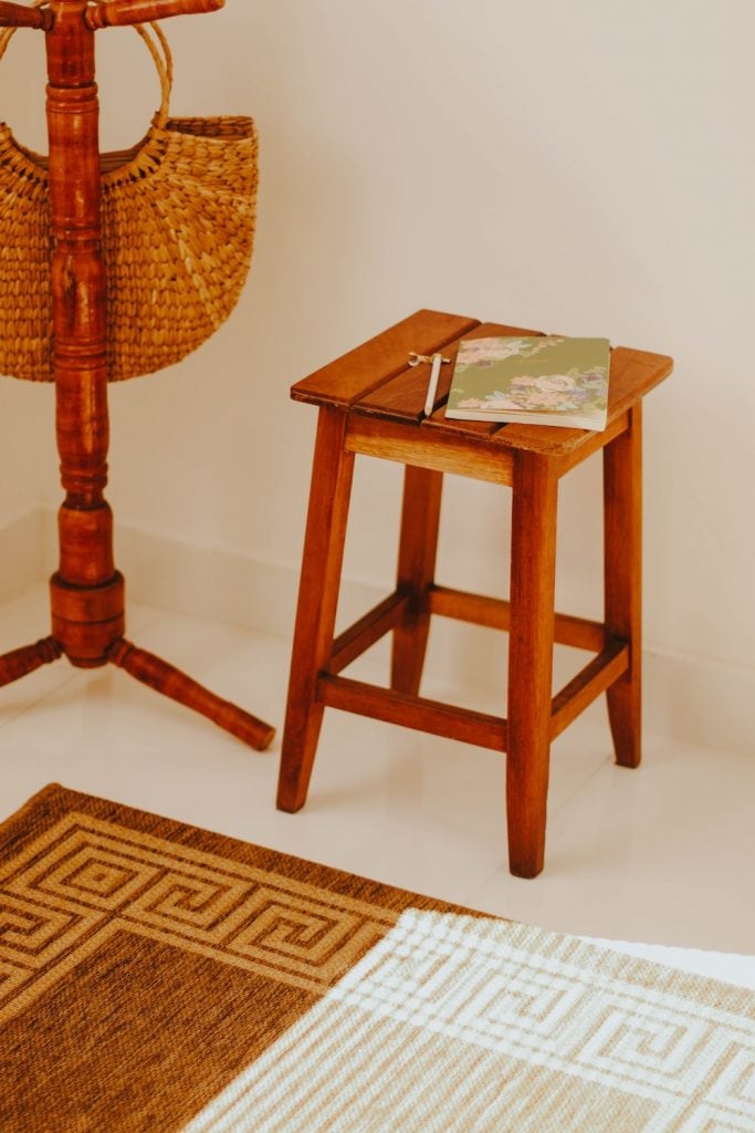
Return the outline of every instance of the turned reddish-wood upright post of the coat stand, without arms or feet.
{"type": "Polygon", "coordinates": [[[86,0],[57,0],[46,34],[55,425],[66,499],[52,633],[74,665],[104,665],[125,631],[108,483],[106,286],[101,246],[98,102],[86,0]]]}

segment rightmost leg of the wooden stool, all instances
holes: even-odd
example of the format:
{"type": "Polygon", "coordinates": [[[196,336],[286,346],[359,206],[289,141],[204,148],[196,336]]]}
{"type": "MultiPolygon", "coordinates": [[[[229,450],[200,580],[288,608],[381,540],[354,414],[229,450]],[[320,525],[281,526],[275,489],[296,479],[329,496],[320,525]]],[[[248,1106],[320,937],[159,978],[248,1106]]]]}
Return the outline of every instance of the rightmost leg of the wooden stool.
{"type": "Polygon", "coordinates": [[[629,642],[629,668],[608,690],[616,761],[642,757],[642,402],[603,449],[606,629],[629,642]]]}

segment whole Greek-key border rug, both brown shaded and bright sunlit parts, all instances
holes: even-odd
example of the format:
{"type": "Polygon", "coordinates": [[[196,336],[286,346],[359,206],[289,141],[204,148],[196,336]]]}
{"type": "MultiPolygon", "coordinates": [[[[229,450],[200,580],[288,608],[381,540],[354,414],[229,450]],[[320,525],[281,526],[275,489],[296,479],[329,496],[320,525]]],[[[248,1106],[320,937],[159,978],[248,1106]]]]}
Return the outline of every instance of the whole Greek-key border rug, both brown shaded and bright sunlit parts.
{"type": "Polygon", "coordinates": [[[2,1133],[754,1133],[752,991],[46,787],[2,1133]]]}

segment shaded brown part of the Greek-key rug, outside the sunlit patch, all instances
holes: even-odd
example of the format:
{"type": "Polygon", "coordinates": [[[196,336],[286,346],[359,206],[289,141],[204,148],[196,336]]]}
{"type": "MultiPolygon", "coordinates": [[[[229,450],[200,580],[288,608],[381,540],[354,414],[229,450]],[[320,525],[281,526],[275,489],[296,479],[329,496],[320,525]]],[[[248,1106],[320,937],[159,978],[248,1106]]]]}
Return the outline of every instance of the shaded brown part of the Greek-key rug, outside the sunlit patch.
{"type": "Polygon", "coordinates": [[[1,1133],[173,1133],[440,902],[51,785],[0,826],[1,1133]]]}

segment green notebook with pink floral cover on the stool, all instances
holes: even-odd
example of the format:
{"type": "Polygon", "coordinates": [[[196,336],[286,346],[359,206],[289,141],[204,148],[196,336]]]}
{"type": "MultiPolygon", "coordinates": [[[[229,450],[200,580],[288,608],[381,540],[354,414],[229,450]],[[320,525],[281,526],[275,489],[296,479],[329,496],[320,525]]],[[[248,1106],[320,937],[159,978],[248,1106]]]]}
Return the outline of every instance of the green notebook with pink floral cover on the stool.
{"type": "Polygon", "coordinates": [[[607,420],[609,350],[608,339],[465,339],[446,417],[601,432],[607,420]]]}

